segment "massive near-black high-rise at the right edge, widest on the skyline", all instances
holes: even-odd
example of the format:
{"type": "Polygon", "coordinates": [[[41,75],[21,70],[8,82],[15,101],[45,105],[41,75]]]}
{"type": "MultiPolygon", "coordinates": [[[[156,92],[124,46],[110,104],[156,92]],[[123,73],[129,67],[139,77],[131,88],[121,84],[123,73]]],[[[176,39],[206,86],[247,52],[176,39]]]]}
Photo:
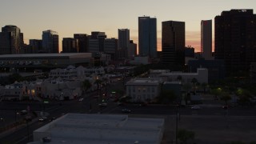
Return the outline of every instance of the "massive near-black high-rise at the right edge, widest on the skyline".
{"type": "Polygon", "coordinates": [[[214,18],[215,59],[223,59],[227,74],[248,71],[256,62],[256,14],[253,10],[222,11],[214,18]]]}

